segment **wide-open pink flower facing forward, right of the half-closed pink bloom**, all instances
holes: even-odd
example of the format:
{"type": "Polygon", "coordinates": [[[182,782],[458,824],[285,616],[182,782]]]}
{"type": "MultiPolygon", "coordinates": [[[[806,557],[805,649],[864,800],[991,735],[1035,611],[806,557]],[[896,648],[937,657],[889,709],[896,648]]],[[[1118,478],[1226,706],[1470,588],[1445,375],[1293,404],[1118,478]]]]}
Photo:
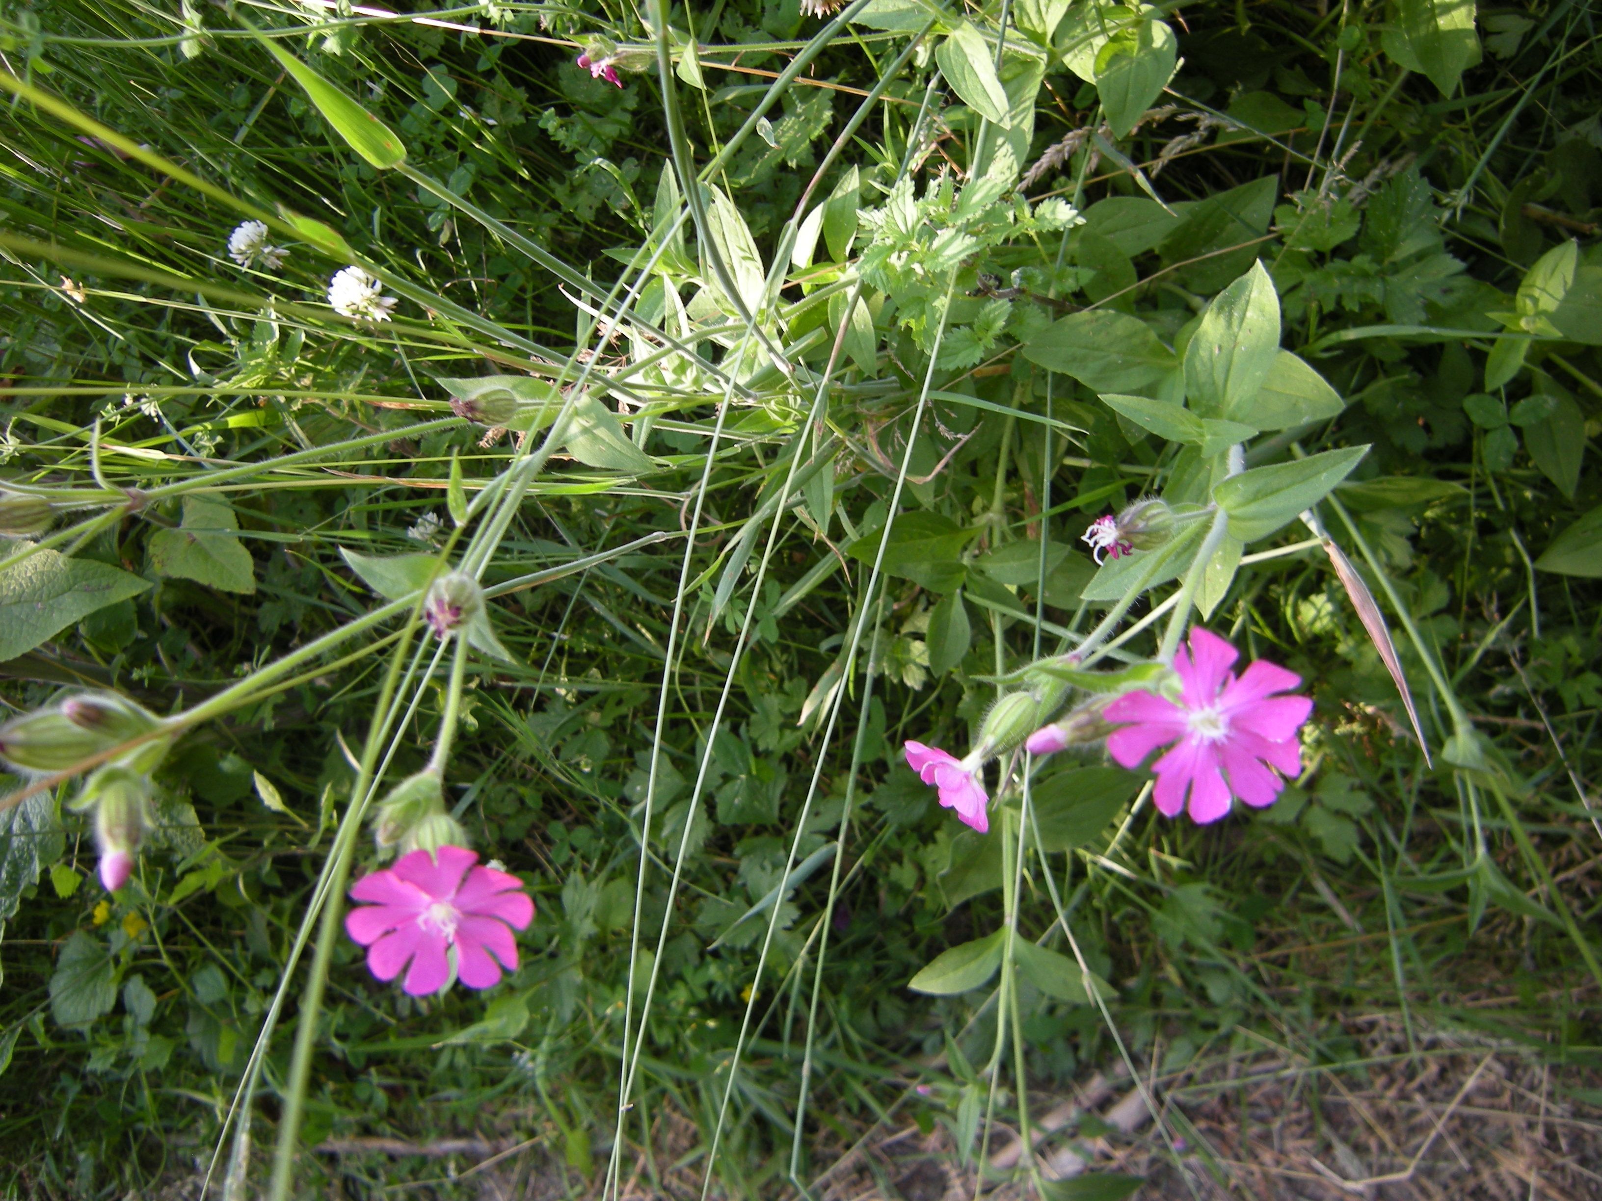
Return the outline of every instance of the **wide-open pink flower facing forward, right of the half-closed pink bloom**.
{"type": "Polygon", "coordinates": [[[1152,799],[1168,817],[1185,807],[1187,793],[1195,821],[1218,821],[1232,796],[1258,809],[1272,805],[1285,781],[1269,769],[1301,775],[1296,732],[1312,698],[1274,695],[1299,687],[1301,676],[1258,660],[1235,679],[1229,668],[1237,658],[1218,634],[1192,629],[1190,653],[1181,649],[1174,657],[1184,685],[1177,705],[1142,690],[1107,706],[1107,721],[1131,722],[1107,740],[1121,765],[1137,767],[1158,746],[1177,743],[1152,764],[1152,799]]]}

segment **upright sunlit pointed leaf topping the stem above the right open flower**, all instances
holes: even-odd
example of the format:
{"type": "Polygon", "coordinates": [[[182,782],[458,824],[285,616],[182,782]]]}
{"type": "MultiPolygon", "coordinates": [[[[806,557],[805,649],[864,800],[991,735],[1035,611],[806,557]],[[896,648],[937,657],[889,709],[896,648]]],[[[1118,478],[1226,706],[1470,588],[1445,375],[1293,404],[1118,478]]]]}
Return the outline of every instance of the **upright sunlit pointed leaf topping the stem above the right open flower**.
{"type": "Polygon", "coordinates": [[[1280,352],[1280,298],[1251,271],[1213,298],[1185,347],[1185,400],[1202,416],[1254,424],[1250,413],[1280,352]]]}

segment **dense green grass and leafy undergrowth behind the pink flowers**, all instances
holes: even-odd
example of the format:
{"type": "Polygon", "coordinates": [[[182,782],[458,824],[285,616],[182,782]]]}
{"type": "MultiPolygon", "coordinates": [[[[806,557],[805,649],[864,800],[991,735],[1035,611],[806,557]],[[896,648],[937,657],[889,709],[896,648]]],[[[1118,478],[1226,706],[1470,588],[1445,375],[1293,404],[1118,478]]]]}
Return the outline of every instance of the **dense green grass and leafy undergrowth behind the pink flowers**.
{"type": "MultiPolygon", "coordinates": [[[[1051,1092],[1121,1055],[1177,1071],[1262,1023],[1341,1062],[1355,1007],[1594,1063],[1584,5],[420,16],[0,10],[5,701],[231,698],[163,762],[115,897],[75,783],[0,815],[11,1195],[123,1196],[205,1174],[215,1148],[227,1171],[224,1116],[360,799],[399,625],[261,673],[378,605],[341,551],[465,548],[513,479],[484,543],[485,584],[513,584],[492,604],[511,661],[468,668],[447,794],[538,916],[489,994],[404,998],[333,946],[300,1145],[490,1131],[585,1191],[636,1161],[655,1180],[641,1148],[671,1111],[719,1195],[775,1196],[888,1116],[945,1124],[971,1158],[1017,1123],[1025,1062],[1051,1092]],[[261,34],[404,163],[352,151],[261,34]],[[623,86],[580,51],[615,54],[623,86]],[[703,213],[674,144],[714,165],[703,213]],[[229,261],[247,216],[290,223],[282,271],[229,261]],[[400,298],[392,322],[327,306],[356,259],[400,298]],[[1286,375],[1213,396],[1187,351],[1237,280],[1272,296],[1262,370],[1286,375]],[[519,477],[553,412],[465,420],[463,381],[489,375],[556,397],[582,378],[572,397],[599,404],[519,477]],[[904,740],[961,753],[995,677],[1075,645],[1147,562],[1097,573],[1089,520],[1205,503],[1240,440],[1248,468],[1368,447],[1270,520],[1232,514],[1253,544],[1226,543],[1198,594],[1210,628],[1307,681],[1310,770],[1197,828],[1133,805],[1144,777],[1099,751],[1059,756],[1036,764],[1019,866],[936,805],[904,740]],[[1384,612],[1416,727],[1307,506],[1384,612]],[[907,988],[998,929],[1056,956],[1009,966],[1004,1006],[995,982],[907,988]],[[1067,929],[1104,1006],[1062,970],[1067,929]],[[649,1010],[631,950],[657,972],[649,1010]],[[1498,1004],[1466,1006],[1488,980],[1498,1004]]],[[[444,674],[400,701],[389,778],[426,757],[444,674]]],[[[247,1107],[263,1147],[306,964],[247,1107]]],[[[306,1155],[301,1187],[439,1175],[362,1163],[306,1155]]],[[[264,1180],[266,1153],[235,1171],[264,1180]]]]}

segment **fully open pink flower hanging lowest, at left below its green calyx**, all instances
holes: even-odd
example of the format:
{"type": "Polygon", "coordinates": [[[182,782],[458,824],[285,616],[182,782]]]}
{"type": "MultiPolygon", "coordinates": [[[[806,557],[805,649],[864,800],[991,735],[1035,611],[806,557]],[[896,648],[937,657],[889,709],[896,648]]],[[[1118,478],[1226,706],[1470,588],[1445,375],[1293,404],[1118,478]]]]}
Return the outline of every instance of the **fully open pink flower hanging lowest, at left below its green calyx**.
{"type": "Polygon", "coordinates": [[[511,932],[533,918],[533,900],[516,876],[474,866],[477,860],[461,847],[413,850],[356,882],[351,898],[372,903],[351,910],[344,929],[367,948],[373,975],[394,980],[410,964],[405,991],[428,996],[450,980],[452,950],[468,988],[498,983],[501,967],[517,970],[511,932]]]}

